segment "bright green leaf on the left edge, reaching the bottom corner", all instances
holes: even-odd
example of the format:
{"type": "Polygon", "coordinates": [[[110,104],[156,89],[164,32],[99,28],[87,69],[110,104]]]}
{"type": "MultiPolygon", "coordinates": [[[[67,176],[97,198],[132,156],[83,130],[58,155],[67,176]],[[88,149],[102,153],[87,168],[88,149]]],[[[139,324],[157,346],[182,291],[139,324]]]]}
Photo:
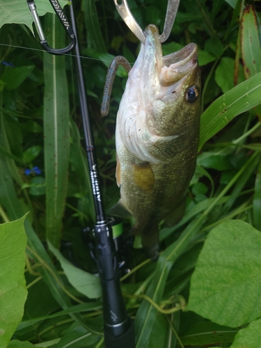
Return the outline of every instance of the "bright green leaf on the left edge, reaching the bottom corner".
{"type": "Polygon", "coordinates": [[[0,225],[0,347],[7,347],[24,315],[26,234],[23,216],[0,225]]]}

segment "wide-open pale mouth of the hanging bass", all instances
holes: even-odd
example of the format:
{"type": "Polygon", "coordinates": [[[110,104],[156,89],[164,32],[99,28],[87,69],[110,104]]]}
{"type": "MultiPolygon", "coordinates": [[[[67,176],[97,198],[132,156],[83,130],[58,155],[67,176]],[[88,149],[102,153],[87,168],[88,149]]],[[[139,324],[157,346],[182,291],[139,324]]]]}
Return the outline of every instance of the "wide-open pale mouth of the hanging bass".
{"type": "Polygon", "coordinates": [[[157,26],[154,24],[148,25],[145,29],[145,35],[145,45],[147,43],[155,47],[155,58],[161,86],[171,86],[198,68],[198,47],[196,44],[190,43],[177,52],[163,56],[157,26]]]}

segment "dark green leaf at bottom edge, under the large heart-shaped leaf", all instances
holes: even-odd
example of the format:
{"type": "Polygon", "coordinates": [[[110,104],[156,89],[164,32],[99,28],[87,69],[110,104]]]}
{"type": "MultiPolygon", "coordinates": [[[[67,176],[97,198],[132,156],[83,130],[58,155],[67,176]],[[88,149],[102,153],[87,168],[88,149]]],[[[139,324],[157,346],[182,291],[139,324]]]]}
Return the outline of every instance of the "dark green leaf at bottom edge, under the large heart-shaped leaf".
{"type": "Polygon", "coordinates": [[[220,345],[232,342],[238,330],[212,322],[196,322],[180,337],[183,345],[220,345]]]}

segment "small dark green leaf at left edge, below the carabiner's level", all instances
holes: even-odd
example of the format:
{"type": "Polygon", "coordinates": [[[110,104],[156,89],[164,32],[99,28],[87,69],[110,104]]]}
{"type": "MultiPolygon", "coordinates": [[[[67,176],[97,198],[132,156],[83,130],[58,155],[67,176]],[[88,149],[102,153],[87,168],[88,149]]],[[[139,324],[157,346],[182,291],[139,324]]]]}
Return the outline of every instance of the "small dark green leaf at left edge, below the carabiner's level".
{"type": "Polygon", "coordinates": [[[0,78],[5,81],[7,90],[14,90],[24,82],[26,77],[29,77],[34,68],[34,65],[6,68],[0,78]]]}

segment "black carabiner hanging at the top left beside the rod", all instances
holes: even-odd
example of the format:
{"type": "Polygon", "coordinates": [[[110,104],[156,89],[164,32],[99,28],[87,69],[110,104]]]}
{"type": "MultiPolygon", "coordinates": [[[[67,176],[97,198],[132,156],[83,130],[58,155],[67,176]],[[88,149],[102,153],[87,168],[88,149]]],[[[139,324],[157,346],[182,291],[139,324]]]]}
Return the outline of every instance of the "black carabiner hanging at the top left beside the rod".
{"type": "Polygon", "coordinates": [[[70,41],[70,45],[68,45],[68,47],[65,47],[65,48],[54,49],[52,47],[49,47],[49,45],[47,44],[47,40],[45,39],[45,33],[42,30],[42,24],[40,22],[38,13],[36,11],[35,2],[33,0],[27,0],[29,9],[31,10],[31,13],[33,15],[33,21],[35,22],[35,26],[38,31],[40,44],[45,49],[45,51],[47,51],[49,54],[59,55],[59,54],[69,53],[72,51],[72,49],[74,49],[74,46],[76,44],[76,37],[74,35],[74,31],[72,30],[72,27],[70,26],[68,22],[68,19],[65,17],[65,14],[63,13],[63,9],[61,8],[60,3],[58,3],[57,0],[49,0],[49,1],[56,12],[56,15],[58,15],[58,18],[60,19],[61,24],[63,24],[63,27],[66,29],[66,32],[70,36],[71,41],[70,41]]]}

